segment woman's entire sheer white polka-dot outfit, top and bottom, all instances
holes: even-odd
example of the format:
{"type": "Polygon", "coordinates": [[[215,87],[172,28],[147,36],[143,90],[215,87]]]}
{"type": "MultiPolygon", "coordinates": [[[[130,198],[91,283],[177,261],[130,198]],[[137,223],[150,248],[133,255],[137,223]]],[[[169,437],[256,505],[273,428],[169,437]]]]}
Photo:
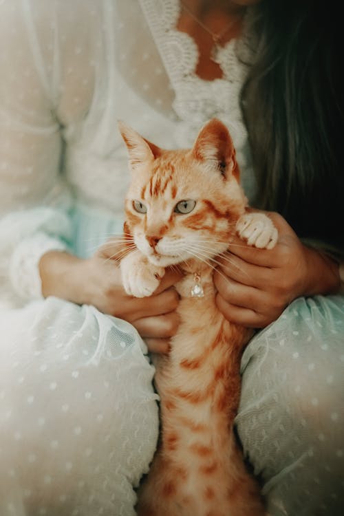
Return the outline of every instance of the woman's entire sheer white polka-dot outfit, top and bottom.
{"type": "MultiPolygon", "coordinates": [[[[87,257],[121,233],[117,120],[176,148],[221,116],[255,192],[237,101],[249,60],[226,45],[224,78],[197,77],[179,11],[178,0],[0,0],[1,516],[133,516],[155,450],[140,337],[92,307],[43,300],[37,268],[47,250],[87,257]]],[[[297,300],[244,354],[237,425],[272,516],[343,506],[343,319],[343,296],[297,300]]]]}

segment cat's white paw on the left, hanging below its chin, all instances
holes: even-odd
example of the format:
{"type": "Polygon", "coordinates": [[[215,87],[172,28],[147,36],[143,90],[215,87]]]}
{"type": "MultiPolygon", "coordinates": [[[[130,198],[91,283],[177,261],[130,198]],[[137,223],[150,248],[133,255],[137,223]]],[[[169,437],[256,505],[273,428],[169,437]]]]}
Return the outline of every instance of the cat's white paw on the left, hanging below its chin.
{"type": "Polygon", "coordinates": [[[164,276],[163,267],[151,264],[139,251],[129,253],[120,261],[122,284],[133,297],[149,297],[164,276]]]}

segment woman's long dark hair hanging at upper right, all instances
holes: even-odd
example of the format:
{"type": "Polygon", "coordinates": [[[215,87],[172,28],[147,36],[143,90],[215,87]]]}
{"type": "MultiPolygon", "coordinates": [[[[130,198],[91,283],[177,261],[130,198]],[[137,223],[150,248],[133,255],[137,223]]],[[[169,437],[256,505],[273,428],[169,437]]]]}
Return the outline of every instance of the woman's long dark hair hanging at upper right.
{"type": "Polygon", "coordinates": [[[255,58],[241,94],[257,175],[255,204],[281,213],[299,237],[341,254],[341,17],[316,0],[262,0],[255,11],[255,58]]]}

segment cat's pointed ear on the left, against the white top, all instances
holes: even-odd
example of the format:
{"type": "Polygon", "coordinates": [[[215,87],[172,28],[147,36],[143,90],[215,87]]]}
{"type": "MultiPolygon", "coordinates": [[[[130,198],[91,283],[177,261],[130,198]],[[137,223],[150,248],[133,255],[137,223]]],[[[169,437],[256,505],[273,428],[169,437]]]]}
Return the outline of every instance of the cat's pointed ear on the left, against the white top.
{"type": "Polygon", "coordinates": [[[159,147],[142,138],[139,133],[131,129],[122,120],[118,120],[118,129],[127,145],[132,169],[135,169],[141,163],[155,160],[161,154],[159,147]]]}

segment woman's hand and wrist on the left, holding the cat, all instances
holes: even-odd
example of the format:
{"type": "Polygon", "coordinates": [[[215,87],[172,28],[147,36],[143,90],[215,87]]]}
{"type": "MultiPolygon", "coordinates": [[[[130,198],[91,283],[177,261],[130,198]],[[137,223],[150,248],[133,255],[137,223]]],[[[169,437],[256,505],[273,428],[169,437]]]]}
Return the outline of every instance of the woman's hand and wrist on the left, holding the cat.
{"type": "Polygon", "coordinates": [[[179,297],[173,285],[182,277],[166,271],[151,297],[128,296],[122,287],[118,258],[122,244],[111,239],[94,256],[80,259],[66,252],[47,252],[40,261],[42,292],[125,319],[145,338],[152,352],[168,352],[169,338],[178,328],[179,297]]]}

